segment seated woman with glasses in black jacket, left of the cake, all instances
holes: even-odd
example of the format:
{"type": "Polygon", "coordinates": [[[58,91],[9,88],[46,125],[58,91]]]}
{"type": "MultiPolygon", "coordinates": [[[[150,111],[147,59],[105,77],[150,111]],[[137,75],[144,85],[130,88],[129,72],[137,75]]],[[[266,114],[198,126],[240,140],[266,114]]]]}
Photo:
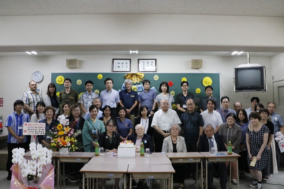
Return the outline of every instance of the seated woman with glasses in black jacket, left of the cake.
{"type": "MultiPolygon", "coordinates": [[[[117,148],[120,143],[120,135],[119,133],[114,132],[116,128],[116,121],[115,120],[108,120],[106,122],[106,131],[103,133],[100,133],[99,135],[99,145],[100,147],[104,148],[104,152],[114,152],[117,153],[117,148]]],[[[102,180],[102,188],[106,188],[106,179],[102,180]]],[[[115,179],[115,186],[114,188],[119,188],[119,180],[115,179]]]]}

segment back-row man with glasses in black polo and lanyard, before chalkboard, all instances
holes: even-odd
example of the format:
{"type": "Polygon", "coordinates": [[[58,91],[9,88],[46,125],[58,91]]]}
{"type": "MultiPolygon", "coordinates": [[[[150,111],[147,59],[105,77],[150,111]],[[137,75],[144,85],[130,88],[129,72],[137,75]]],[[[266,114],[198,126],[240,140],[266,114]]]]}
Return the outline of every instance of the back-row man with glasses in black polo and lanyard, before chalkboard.
{"type": "Polygon", "coordinates": [[[176,97],[176,105],[178,108],[178,116],[180,118],[181,114],[183,114],[184,112],[187,111],[187,107],[186,107],[186,101],[188,99],[194,99],[194,95],[193,93],[188,92],[188,82],[187,81],[183,81],[180,84],[181,86],[181,90],[182,93],[178,94],[176,97]]]}

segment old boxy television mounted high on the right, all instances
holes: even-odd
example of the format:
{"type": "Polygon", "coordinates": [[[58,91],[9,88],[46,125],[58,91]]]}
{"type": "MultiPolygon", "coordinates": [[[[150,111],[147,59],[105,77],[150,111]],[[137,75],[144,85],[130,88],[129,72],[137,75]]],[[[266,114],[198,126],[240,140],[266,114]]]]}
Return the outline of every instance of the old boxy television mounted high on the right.
{"type": "Polygon", "coordinates": [[[265,92],[265,67],[234,68],[235,92],[265,92]]]}

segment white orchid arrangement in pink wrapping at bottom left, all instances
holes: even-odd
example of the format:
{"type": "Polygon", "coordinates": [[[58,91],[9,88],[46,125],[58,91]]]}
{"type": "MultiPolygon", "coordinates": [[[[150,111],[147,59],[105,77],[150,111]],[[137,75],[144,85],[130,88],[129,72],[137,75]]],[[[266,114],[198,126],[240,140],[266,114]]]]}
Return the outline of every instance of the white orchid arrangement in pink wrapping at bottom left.
{"type": "Polygon", "coordinates": [[[41,144],[30,143],[31,156],[24,158],[24,148],[12,150],[12,180],[10,188],[54,189],[52,150],[41,144]]]}

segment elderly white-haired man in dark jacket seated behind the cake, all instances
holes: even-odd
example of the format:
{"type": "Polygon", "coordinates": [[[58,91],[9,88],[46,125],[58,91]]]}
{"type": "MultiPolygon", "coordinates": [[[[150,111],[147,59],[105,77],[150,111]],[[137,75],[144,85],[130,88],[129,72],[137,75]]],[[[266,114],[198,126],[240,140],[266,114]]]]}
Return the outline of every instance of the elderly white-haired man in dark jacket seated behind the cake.
{"type": "Polygon", "coordinates": [[[142,124],[137,124],[135,126],[136,134],[129,135],[127,140],[130,140],[136,145],[136,152],[140,152],[141,142],[144,144],[144,151],[146,148],[150,149],[150,152],[154,152],[154,145],[152,141],[152,137],[150,135],[146,135],[144,126],[142,124]]]}

